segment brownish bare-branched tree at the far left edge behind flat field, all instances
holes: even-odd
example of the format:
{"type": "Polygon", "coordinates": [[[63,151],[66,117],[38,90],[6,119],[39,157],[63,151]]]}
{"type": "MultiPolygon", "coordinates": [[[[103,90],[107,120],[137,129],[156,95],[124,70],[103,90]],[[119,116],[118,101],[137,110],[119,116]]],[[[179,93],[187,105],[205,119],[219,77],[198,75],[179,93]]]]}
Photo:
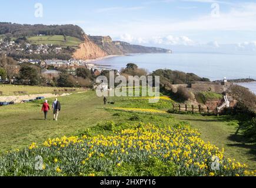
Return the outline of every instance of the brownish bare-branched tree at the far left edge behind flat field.
{"type": "Polygon", "coordinates": [[[14,59],[0,56],[0,67],[5,70],[6,78],[9,80],[11,84],[11,80],[16,76],[16,61],[14,59]]]}

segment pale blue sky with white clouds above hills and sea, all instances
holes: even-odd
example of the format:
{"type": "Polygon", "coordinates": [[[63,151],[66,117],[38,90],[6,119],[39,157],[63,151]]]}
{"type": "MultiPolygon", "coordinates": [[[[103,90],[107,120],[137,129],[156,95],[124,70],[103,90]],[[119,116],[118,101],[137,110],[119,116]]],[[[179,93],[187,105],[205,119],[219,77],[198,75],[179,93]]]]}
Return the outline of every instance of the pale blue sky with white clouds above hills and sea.
{"type": "Polygon", "coordinates": [[[75,24],[176,51],[256,53],[256,0],[2,0],[0,9],[1,22],[75,24]]]}

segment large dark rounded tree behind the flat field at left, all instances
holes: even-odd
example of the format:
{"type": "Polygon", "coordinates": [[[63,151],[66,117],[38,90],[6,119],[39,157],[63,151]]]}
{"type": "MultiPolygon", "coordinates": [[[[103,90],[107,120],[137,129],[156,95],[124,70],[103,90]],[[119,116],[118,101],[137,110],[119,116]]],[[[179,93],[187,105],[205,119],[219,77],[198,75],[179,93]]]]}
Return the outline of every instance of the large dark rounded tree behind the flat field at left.
{"type": "Polygon", "coordinates": [[[19,79],[24,80],[28,85],[39,85],[41,78],[38,70],[34,66],[24,65],[19,70],[19,79]]]}

